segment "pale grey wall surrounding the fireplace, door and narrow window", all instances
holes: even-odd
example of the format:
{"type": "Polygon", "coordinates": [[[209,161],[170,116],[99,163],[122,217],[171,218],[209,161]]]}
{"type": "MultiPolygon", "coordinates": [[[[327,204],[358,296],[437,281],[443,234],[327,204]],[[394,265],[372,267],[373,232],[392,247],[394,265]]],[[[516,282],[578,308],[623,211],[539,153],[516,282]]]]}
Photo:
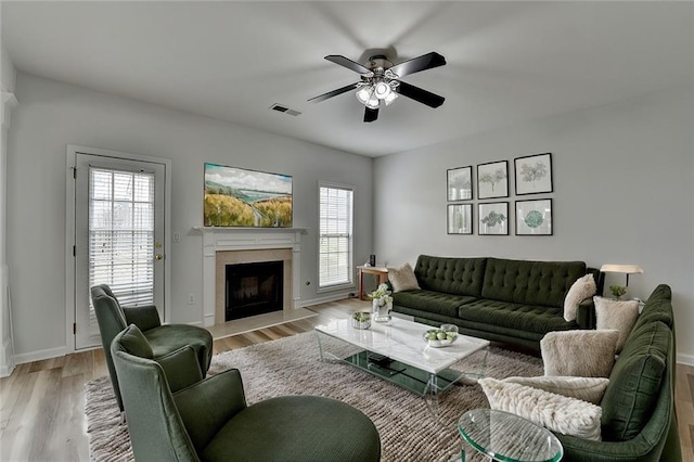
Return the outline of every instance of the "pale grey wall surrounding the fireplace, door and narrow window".
{"type": "MultiPolygon", "coordinates": [[[[202,321],[202,236],[191,228],[202,224],[204,162],[294,177],[294,226],[308,228],[301,241],[303,304],[326,296],[316,291],[319,180],[356,188],[356,262],[372,251],[369,157],[22,73],[16,92],[22,105],[10,131],[8,260],[17,362],[59,355],[73,342],[65,338],[63,301],[67,144],[172,161],[171,224],[181,233],[168,253],[172,322],[202,321]],[[196,305],[187,305],[189,293],[196,305]]],[[[278,116],[268,111],[268,117],[278,116]]]]}

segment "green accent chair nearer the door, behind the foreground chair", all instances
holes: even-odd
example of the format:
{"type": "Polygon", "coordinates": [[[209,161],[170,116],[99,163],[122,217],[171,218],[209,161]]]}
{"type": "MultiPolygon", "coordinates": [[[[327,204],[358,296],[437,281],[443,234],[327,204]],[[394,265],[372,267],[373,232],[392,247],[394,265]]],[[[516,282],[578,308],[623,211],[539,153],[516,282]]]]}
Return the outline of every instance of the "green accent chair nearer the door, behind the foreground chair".
{"type": "Polygon", "coordinates": [[[124,410],[123,399],[111,357],[111,343],[116,334],[126,329],[128,324],[136,324],[142,331],[151,345],[154,359],[160,360],[167,375],[170,375],[169,385],[174,389],[189,384],[189,377],[180,376],[178,372],[176,355],[171,357],[171,354],[182,346],[190,345],[197,358],[198,371],[191,378],[198,377],[200,380],[207,374],[213,358],[213,336],[206,329],[188,324],[162,325],[159,313],[154,305],[121,307],[106,284],[91,287],[91,300],[99,322],[111,384],[121,412],[124,410]]]}

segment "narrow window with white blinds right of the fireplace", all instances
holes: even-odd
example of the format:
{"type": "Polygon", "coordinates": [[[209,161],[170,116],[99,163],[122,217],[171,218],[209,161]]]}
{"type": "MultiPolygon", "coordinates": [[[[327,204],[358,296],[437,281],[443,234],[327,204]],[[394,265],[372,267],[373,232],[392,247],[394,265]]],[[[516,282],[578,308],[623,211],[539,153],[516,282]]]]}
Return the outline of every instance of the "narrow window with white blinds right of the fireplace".
{"type": "Polygon", "coordinates": [[[354,191],[320,184],[319,287],[352,284],[354,191]]]}

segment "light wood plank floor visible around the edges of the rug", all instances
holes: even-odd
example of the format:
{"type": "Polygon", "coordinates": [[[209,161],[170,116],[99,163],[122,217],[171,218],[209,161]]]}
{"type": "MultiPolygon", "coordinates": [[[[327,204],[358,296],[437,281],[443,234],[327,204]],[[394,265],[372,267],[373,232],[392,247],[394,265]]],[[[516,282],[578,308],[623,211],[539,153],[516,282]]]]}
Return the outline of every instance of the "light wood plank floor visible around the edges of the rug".
{"type": "MultiPolygon", "coordinates": [[[[368,309],[367,301],[311,307],[318,316],[215,341],[215,354],[312,331],[368,309]]],[[[0,461],[89,461],[85,383],[107,375],[101,349],[18,365],[0,378],[0,461]]],[[[694,462],[694,367],[678,365],[676,405],[683,460],[694,462]]]]}

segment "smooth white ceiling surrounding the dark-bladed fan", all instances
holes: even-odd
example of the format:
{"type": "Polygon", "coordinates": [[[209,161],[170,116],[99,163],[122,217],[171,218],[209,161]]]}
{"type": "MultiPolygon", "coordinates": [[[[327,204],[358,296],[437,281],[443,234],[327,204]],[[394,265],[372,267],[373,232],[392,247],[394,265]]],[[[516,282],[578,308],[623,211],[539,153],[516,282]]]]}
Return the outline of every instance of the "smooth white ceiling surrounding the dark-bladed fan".
{"type": "Polygon", "coordinates": [[[692,82],[694,3],[684,2],[13,2],[2,42],[20,72],[313,143],[378,156],[692,82]],[[403,80],[407,98],[362,123],[358,81],[323,60],[448,64],[403,80]],[[301,112],[269,111],[280,103],[301,112]]]}

